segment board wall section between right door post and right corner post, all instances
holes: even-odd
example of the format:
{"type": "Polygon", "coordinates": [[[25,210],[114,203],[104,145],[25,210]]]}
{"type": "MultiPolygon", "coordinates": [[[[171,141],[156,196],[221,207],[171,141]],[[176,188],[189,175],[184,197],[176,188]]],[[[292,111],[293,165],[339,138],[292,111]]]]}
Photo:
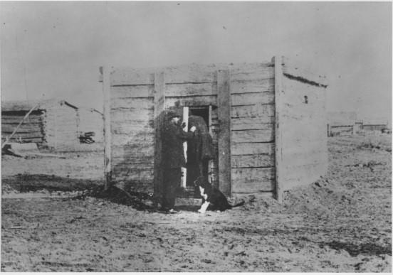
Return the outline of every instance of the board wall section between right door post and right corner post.
{"type": "Polygon", "coordinates": [[[260,64],[231,72],[232,193],[274,188],[273,71],[270,64],[260,64]]]}

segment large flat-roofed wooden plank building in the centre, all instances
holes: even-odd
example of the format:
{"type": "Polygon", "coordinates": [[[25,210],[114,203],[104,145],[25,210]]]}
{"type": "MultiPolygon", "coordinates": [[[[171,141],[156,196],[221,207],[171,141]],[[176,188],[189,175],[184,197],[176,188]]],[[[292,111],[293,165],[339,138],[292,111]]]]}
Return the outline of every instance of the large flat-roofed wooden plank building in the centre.
{"type": "MultiPolygon", "coordinates": [[[[107,180],[159,193],[160,119],[188,107],[216,146],[209,180],[226,195],[312,183],[327,171],[326,79],[288,58],[266,63],[104,68],[107,180]]],[[[180,111],[182,112],[182,111],[180,111]]]]}

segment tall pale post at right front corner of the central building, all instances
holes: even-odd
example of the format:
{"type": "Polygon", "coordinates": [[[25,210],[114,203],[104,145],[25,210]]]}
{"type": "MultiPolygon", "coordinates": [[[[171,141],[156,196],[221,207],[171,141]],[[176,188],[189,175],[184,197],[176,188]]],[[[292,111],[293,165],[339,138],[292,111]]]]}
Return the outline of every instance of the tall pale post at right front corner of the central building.
{"type": "Polygon", "coordinates": [[[274,58],[274,99],[276,104],[275,114],[275,153],[276,153],[276,188],[275,195],[278,203],[283,202],[283,122],[281,119],[283,102],[283,58],[276,55],[274,58]]]}

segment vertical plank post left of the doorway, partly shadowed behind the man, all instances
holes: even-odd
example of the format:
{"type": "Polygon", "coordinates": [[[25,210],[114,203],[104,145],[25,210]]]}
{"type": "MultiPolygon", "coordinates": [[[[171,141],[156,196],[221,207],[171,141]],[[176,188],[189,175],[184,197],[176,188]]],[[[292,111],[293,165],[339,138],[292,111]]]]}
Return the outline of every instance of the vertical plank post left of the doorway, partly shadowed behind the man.
{"type": "Polygon", "coordinates": [[[165,107],[165,75],[164,72],[154,73],[154,201],[159,203],[162,198],[162,140],[161,131],[165,107]]]}

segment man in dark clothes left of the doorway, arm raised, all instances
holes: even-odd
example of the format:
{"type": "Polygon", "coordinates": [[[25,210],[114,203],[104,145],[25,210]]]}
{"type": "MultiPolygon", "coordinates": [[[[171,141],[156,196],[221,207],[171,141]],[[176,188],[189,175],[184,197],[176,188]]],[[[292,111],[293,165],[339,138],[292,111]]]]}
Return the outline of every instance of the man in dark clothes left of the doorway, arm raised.
{"type": "Polygon", "coordinates": [[[162,135],[162,168],[163,188],[162,208],[173,211],[175,191],[180,186],[182,167],[186,166],[184,158],[183,141],[192,139],[196,127],[193,126],[190,132],[182,129],[179,114],[168,112],[164,121],[164,133],[162,135]]]}

